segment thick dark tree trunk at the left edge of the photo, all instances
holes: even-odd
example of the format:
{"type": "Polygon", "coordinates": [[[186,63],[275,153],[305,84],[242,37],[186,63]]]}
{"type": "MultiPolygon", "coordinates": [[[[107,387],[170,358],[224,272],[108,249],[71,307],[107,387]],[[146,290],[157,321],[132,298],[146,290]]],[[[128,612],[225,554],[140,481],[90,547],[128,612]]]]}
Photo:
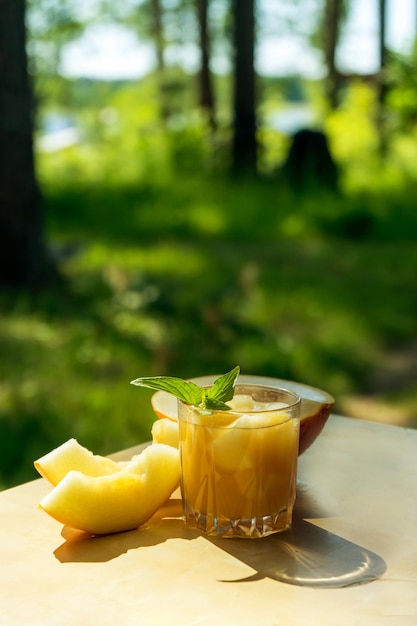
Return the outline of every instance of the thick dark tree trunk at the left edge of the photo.
{"type": "Polygon", "coordinates": [[[25,44],[25,1],[0,0],[0,286],[39,285],[49,269],[25,44]]]}

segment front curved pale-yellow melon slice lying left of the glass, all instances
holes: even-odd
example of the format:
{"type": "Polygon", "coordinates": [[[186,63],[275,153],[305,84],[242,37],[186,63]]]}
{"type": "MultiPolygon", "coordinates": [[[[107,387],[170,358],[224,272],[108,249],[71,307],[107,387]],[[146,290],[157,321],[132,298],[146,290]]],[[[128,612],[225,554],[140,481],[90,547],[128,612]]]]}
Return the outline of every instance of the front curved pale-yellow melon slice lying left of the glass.
{"type": "Polygon", "coordinates": [[[179,474],[178,450],[154,444],[114,474],[94,477],[71,470],[39,507],[61,524],[93,535],[132,530],[168,500],[179,474]]]}

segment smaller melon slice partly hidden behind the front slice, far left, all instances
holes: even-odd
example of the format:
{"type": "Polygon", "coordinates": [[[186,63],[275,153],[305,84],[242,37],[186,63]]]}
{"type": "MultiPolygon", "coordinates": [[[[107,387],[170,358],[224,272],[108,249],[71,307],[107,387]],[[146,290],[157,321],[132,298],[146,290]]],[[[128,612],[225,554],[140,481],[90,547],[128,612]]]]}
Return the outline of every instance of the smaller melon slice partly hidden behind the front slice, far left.
{"type": "Polygon", "coordinates": [[[43,478],[57,485],[70,470],[77,470],[87,476],[105,476],[119,472],[124,464],[93,454],[76,439],[69,439],[58,448],[34,461],[34,466],[43,478]]]}

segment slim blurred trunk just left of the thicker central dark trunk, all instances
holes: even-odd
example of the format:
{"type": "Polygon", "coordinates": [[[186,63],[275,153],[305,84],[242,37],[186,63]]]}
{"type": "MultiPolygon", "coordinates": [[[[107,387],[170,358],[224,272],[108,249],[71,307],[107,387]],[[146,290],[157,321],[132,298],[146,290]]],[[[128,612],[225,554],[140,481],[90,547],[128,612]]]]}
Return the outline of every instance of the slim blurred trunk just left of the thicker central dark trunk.
{"type": "Polygon", "coordinates": [[[199,104],[207,111],[210,125],[216,127],[213,82],[210,72],[210,35],[208,27],[209,0],[197,1],[197,18],[200,29],[201,65],[199,72],[199,104]]]}

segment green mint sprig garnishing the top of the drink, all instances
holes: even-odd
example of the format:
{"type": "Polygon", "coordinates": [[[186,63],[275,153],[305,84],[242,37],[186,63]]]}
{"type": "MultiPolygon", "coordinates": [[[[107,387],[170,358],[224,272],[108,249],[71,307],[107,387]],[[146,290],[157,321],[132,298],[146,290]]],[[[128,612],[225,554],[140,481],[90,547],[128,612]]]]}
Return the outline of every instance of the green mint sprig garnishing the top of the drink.
{"type": "Polygon", "coordinates": [[[216,378],[208,388],[200,387],[195,383],[175,376],[143,376],[131,381],[131,385],[167,391],[183,402],[193,404],[201,409],[229,411],[226,404],[233,398],[234,386],[240,373],[237,365],[230,372],[216,378]]]}

